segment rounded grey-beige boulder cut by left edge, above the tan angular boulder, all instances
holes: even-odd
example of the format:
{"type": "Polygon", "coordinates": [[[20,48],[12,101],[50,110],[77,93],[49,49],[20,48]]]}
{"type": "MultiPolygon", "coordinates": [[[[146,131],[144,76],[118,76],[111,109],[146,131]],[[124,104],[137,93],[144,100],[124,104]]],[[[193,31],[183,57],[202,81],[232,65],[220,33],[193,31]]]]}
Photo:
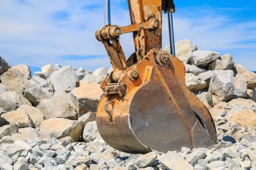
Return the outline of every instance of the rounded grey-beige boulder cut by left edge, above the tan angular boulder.
{"type": "Polygon", "coordinates": [[[15,111],[21,105],[31,106],[31,103],[20,91],[9,91],[0,95],[0,108],[6,112],[15,111]]]}

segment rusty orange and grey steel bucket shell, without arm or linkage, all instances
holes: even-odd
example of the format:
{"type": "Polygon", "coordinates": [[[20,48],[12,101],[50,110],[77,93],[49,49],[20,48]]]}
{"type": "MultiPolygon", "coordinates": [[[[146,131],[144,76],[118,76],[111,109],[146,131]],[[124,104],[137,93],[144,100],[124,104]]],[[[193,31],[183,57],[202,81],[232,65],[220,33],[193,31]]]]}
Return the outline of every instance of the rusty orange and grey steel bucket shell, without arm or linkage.
{"type": "MultiPolygon", "coordinates": [[[[191,94],[188,97],[189,90],[183,86],[184,79],[177,77],[185,75],[185,70],[183,67],[175,69],[174,66],[158,65],[155,57],[159,51],[154,48],[143,60],[125,71],[118,82],[125,85],[124,95],[102,97],[96,117],[99,133],[111,147],[127,153],[151,150],[165,153],[180,150],[183,146],[192,149],[214,144],[216,132],[209,129],[215,129],[215,125],[211,124],[209,111],[195,114],[191,94]],[[136,81],[129,77],[133,70],[139,73],[136,81]],[[106,111],[109,102],[111,111],[106,111]],[[210,119],[205,119],[205,116],[210,119]]],[[[171,54],[169,56],[171,65],[179,63],[171,54]]],[[[108,85],[103,82],[102,88],[106,87],[108,85]]]]}

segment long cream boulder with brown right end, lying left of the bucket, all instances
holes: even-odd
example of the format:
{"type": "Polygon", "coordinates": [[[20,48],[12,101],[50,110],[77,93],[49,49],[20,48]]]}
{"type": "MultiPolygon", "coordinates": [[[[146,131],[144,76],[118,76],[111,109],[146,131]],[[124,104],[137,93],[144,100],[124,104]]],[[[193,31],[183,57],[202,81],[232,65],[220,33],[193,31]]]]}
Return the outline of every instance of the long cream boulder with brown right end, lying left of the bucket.
{"type": "Polygon", "coordinates": [[[40,132],[48,133],[51,137],[61,139],[71,136],[74,142],[80,138],[82,124],[76,120],[64,118],[49,118],[41,122],[40,132]]]}

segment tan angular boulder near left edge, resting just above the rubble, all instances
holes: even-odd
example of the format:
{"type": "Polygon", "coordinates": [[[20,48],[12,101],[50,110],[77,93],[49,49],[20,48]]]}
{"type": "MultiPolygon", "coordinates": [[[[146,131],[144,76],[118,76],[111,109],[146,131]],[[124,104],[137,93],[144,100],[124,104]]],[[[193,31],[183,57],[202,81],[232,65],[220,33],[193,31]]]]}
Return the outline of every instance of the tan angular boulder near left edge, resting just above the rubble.
{"type": "Polygon", "coordinates": [[[23,110],[10,111],[1,115],[2,118],[12,125],[18,125],[18,127],[35,127],[32,119],[23,110]]]}

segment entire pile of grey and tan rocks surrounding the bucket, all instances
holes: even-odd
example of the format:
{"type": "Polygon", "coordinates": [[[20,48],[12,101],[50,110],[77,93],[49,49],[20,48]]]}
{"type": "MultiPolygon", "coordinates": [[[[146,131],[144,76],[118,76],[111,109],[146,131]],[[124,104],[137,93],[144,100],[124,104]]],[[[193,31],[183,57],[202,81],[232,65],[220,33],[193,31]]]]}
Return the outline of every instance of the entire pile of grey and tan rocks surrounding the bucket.
{"type": "Polygon", "coordinates": [[[46,65],[32,77],[28,65],[11,68],[0,57],[0,169],[256,170],[256,74],[230,54],[197,51],[189,40],[175,46],[186,85],[212,114],[218,144],[122,153],[102,140],[95,121],[99,83],[111,69],[46,65]]]}

